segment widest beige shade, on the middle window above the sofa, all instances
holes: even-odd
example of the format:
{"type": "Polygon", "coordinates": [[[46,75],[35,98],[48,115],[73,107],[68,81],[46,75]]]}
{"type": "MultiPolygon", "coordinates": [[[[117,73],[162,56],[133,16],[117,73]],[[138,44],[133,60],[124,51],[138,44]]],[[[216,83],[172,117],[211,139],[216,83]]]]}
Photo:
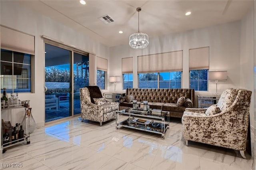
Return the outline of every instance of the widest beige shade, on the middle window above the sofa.
{"type": "Polygon", "coordinates": [[[138,56],[138,73],[182,71],[183,51],[138,56]]]}

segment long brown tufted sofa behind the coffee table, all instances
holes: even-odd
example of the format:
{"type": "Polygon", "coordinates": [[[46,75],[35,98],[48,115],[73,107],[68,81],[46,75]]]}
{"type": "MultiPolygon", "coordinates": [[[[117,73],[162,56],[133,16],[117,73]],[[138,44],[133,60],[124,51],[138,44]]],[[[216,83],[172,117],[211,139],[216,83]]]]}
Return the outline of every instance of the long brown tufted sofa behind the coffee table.
{"type": "MultiPolygon", "coordinates": [[[[186,107],[178,107],[176,105],[178,99],[184,96],[186,99],[191,99],[194,103],[194,89],[126,89],[126,95],[133,95],[134,100],[138,103],[148,101],[150,109],[162,109],[163,111],[169,111],[170,117],[181,118],[186,107]]],[[[122,97],[123,98],[123,97],[122,97]]],[[[119,110],[127,107],[132,107],[132,102],[127,103],[120,100],[119,110]]]]}

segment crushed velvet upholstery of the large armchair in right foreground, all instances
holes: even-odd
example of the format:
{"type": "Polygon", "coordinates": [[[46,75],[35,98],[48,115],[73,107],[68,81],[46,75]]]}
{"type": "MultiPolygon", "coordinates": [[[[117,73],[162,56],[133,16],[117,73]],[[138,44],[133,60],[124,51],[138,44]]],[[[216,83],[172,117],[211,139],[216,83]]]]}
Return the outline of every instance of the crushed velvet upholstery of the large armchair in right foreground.
{"type": "Polygon", "coordinates": [[[251,95],[245,89],[226,89],[217,104],[221,112],[216,115],[207,116],[207,109],[186,108],[184,139],[245,151],[251,95]]]}

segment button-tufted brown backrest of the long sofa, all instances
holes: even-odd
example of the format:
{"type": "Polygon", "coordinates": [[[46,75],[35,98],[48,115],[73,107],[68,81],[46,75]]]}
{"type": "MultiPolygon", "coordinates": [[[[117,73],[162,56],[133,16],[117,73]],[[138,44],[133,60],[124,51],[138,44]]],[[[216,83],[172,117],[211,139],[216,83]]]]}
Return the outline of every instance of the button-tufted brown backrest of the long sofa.
{"type": "Polygon", "coordinates": [[[178,99],[185,96],[194,103],[194,89],[140,89],[128,88],[126,95],[133,95],[134,100],[161,102],[161,103],[177,103],[178,99]]]}

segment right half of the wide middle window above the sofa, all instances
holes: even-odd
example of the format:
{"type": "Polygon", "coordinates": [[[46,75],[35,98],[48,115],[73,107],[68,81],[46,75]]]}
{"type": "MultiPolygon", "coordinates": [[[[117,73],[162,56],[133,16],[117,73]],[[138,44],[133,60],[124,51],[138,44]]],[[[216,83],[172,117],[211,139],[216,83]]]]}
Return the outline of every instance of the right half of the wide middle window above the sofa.
{"type": "Polygon", "coordinates": [[[159,88],[181,88],[181,71],[159,73],[159,88]]]}

